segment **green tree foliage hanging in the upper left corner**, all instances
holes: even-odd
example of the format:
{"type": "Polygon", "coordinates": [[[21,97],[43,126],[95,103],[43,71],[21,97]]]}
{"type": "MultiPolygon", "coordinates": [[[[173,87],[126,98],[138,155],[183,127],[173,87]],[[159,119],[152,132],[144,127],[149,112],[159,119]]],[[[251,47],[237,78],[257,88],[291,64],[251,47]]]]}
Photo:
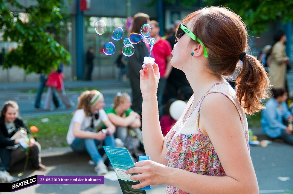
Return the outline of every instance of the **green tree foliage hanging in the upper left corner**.
{"type": "Polygon", "coordinates": [[[5,54],[3,68],[15,65],[27,73],[48,73],[52,68],[56,69],[61,61],[71,63],[69,52],[52,34],[58,36],[66,29],[66,21],[60,11],[62,5],[63,0],[35,0],[29,7],[17,0],[0,1],[3,40],[18,43],[16,49],[5,54]],[[26,20],[21,17],[22,12],[27,14],[26,20]]]}

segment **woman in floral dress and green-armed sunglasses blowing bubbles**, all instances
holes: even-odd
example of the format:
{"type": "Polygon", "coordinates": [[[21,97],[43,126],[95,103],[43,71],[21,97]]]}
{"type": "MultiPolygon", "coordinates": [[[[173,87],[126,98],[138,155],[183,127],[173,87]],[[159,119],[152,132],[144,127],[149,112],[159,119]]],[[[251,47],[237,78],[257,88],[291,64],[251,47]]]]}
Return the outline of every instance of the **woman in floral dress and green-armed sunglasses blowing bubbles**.
{"type": "Polygon", "coordinates": [[[260,99],[268,96],[269,79],[257,58],[245,52],[245,27],[224,7],[202,8],[183,19],[171,64],[185,73],[194,93],[165,138],[156,97],[159,67],[142,65],[142,136],[150,160],[126,171],[141,181],[133,189],[167,184],[166,193],[259,192],[245,113],[263,109],[260,99]],[[239,60],[243,68],[235,92],[224,77],[239,60]]]}

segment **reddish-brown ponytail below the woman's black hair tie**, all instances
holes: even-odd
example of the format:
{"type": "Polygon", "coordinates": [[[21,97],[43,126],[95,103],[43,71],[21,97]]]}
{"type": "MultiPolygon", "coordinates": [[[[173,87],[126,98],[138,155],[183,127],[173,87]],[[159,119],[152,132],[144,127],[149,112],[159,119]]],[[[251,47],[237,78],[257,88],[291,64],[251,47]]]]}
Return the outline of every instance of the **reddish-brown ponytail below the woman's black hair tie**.
{"type": "Polygon", "coordinates": [[[236,78],[236,93],[245,112],[251,115],[264,108],[260,100],[268,97],[270,84],[267,72],[256,57],[246,54],[242,64],[236,78]]]}

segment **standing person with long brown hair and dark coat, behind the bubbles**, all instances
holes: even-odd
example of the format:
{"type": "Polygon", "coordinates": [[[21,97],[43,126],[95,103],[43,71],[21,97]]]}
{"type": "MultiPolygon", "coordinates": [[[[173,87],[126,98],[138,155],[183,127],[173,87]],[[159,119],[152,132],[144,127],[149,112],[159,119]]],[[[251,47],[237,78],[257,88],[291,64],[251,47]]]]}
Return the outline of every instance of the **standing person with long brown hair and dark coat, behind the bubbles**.
{"type": "MultiPolygon", "coordinates": [[[[130,33],[141,33],[141,26],[149,22],[149,15],[145,13],[137,13],[134,15],[133,26],[130,33]]],[[[142,96],[139,86],[139,70],[145,56],[149,56],[149,51],[143,41],[133,45],[135,52],[128,57],[128,76],[130,78],[132,93],[132,110],[141,115],[142,96]]]]}

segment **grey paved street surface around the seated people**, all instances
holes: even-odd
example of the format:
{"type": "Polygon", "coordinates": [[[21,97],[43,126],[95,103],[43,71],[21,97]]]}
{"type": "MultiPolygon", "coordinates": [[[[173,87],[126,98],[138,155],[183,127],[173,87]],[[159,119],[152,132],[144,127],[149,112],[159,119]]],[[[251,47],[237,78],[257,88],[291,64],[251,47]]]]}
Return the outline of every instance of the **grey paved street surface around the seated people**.
{"type": "MultiPolygon", "coordinates": [[[[290,90],[293,91],[293,74],[288,76],[290,90]]],[[[75,110],[65,109],[64,106],[46,112],[43,110],[35,110],[33,103],[35,93],[29,92],[37,90],[37,82],[25,83],[1,83],[0,84],[0,104],[12,99],[19,103],[21,115],[46,115],[55,113],[70,113],[75,110]]],[[[77,104],[77,97],[84,88],[96,88],[105,96],[106,108],[111,106],[113,97],[118,91],[131,92],[129,84],[123,84],[116,80],[101,81],[67,81],[65,88],[69,89],[68,96],[77,104]],[[81,88],[81,90],[76,90],[81,88]],[[74,89],[72,91],[71,89],[74,89]]],[[[44,97],[43,97],[44,99],[44,97]]],[[[252,129],[254,134],[260,139],[265,138],[261,133],[261,129],[252,129]]],[[[43,150],[43,163],[48,169],[42,171],[28,171],[22,177],[30,177],[32,175],[96,175],[94,166],[88,164],[89,156],[86,154],[75,154],[69,147],[53,150],[43,150]]],[[[257,174],[260,193],[293,193],[293,147],[281,142],[273,142],[267,147],[253,146],[251,147],[251,158],[257,174]]],[[[12,174],[17,175],[21,172],[22,167],[19,166],[12,174]]],[[[243,169],[245,170],[245,169],[243,169]]],[[[110,173],[111,175],[111,173],[110,173]]],[[[115,176],[114,176],[115,177],[115,176]]],[[[202,183],[195,183],[202,184],[202,183]]],[[[248,185],[249,186],[249,185],[248,185]]],[[[3,192],[1,192],[3,193],[3,192]]],[[[100,193],[100,194],[121,194],[118,181],[105,179],[104,185],[45,185],[39,184],[17,191],[16,193],[100,193]]],[[[153,186],[152,190],[147,194],[165,193],[165,185],[153,186]]]]}

